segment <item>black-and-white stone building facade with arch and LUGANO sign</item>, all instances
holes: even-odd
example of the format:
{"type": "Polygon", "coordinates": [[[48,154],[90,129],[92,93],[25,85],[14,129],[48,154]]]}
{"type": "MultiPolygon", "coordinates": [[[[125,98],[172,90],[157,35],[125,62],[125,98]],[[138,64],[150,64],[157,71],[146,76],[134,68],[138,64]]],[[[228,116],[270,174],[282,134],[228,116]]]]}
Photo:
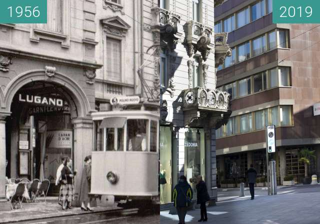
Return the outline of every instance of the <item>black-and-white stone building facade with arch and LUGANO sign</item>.
{"type": "Polygon", "coordinates": [[[48,0],[47,24],[0,24],[0,197],[5,177],[49,179],[54,194],[63,155],[77,170],[77,199],[83,159],[94,150],[91,113],[126,95],[157,110],[156,6],[48,0]]]}

